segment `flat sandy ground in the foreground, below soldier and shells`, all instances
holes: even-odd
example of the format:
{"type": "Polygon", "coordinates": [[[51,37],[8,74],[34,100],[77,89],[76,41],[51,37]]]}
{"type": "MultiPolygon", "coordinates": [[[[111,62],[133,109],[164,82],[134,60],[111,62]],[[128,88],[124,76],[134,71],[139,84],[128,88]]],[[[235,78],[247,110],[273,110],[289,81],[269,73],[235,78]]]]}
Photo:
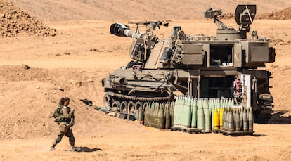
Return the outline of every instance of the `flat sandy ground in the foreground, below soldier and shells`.
{"type": "Polygon", "coordinates": [[[1,160],[290,160],[290,125],[254,124],[254,136],[186,134],[146,129],[143,134],[77,137],[48,151],[50,139],[0,141],[1,160]]]}

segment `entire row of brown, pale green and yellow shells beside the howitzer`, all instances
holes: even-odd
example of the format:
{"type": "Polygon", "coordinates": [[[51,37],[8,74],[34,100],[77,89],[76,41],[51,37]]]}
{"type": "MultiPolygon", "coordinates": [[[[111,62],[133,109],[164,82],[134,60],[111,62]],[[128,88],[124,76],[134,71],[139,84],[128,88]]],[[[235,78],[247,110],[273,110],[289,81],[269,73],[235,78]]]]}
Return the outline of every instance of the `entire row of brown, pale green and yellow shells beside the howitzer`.
{"type": "Polygon", "coordinates": [[[253,131],[252,108],[235,105],[233,98],[178,96],[176,102],[146,103],[143,124],[159,129],[193,128],[212,131],[253,131]]]}

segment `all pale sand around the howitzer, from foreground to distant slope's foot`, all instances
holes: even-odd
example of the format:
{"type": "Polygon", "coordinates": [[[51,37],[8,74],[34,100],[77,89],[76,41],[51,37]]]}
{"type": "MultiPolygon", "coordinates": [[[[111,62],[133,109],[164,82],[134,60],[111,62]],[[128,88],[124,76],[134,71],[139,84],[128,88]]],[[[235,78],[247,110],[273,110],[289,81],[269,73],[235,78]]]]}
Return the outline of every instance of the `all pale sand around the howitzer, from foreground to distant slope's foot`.
{"type": "MultiPolygon", "coordinates": [[[[1,38],[0,160],[290,160],[290,20],[254,22],[259,36],[269,37],[276,47],[276,63],[267,68],[278,114],[270,124],[254,124],[254,136],[239,137],[160,131],[109,117],[79,101],[102,105],[101,79],[130,60],[131,39],[110,35],[112,22],[46,22],[56,28],[56,37],[1,38]],[[67,138],[48,151],[57,134],[48,115],[61,96],[70,96],[76,108],[73,130],[80,153],[69,151],[67,138]]],[[[233,20],[225,22],[236,26],[233,20]]],[[[186,34],[214,36],[216,30],[212,20],[176,20],[173,25],[181,25],[186,34]]],[[[170,31],[162,28],[157,35],[170,31]]]]}

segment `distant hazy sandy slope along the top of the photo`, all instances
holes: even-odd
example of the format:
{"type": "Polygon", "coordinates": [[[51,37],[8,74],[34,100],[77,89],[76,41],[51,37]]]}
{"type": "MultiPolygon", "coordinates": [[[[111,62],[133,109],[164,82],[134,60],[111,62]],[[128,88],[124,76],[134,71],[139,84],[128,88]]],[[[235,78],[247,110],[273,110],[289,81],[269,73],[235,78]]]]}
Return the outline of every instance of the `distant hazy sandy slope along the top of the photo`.
{"type": "MultiPolygon", "coordinates": [[[[193,1],[164,0],[11,0],[35,15],[40,21],[64,20],[201,20],[210,6],[221,8],[224,13],[234,13],[238,4],[250,4],[247,0],[193,1]]],[[[290,6],[290,1],[255,1],[257,13],[280,11],[290,6]]]]}

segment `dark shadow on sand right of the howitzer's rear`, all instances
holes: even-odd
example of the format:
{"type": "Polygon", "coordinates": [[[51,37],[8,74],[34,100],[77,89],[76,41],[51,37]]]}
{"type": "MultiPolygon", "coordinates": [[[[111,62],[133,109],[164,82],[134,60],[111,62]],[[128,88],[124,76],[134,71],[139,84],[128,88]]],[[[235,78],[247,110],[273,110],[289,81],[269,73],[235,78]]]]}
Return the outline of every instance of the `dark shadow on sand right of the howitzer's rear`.
{"type": "Polygon", "coordinates": [[[283,116],[287,112],[288,112],[287,110],[274,111],[274,114],[272,115],[268,123],[269,124],[291,124],[291,115],[283,116]]]}

